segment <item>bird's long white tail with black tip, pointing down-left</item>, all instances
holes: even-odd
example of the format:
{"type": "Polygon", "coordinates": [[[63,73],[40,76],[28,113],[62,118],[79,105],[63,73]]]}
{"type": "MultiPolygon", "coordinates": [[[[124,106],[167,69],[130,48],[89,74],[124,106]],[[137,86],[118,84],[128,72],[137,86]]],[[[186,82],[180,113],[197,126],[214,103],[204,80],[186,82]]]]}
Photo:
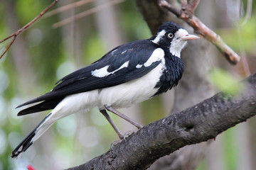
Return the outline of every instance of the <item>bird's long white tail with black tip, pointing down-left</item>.
{"type": "Polygon", "coordinates": [[[38,140],[41,135],[43,135],[48,128],[50,128],[53,123],[55,123],[55,119],[51,118],[52,113],[49,113],[46,118],[44,118],[39,125],[32,130],[32,132],[14,149],[14,151],[11,154],[11,158],[18,159],[18,157],[21,156],[23,152],[30,147],[33,142],[38,140]]]}

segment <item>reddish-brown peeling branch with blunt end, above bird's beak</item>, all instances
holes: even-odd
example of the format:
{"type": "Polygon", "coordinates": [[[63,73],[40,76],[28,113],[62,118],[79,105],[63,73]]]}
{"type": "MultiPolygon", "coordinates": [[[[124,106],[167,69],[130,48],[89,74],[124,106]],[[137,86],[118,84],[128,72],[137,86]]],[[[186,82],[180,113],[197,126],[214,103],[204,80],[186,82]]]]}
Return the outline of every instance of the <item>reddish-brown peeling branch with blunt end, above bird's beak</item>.
{"type": "MultiPolygon", "coordinates": [[[[159,6],[166,8],[167,10],[174,13],[178,18],[186,21],[194,30],[195,33],[202,35],[206,40],[210,41],[215,45],[220,52],[228,59],[232,64],[237,64],[240,61],[240,56],[235,53],[225,42],[220,38],[220,35],[216,34],[213,30],[210,30],[205,24],[203,24],[196,16],[193,15],[193,11],[198,5],[198,0],[189,1],[190,8],[182,8],[178,10],[167,1],[159,0],[159,6]]],[[[183,3],[186,3],[183,1],[183,3]]]]}

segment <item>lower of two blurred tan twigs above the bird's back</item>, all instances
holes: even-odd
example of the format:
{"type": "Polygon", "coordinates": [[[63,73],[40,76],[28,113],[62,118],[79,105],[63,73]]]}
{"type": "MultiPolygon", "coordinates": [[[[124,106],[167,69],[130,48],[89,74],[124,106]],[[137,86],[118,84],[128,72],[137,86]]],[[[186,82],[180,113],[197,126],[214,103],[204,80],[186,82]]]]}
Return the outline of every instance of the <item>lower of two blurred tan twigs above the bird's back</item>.
{"type": "Polygon", "coordinates": [[[72,22],[73,20],[78,20],[80,18],[83,18],[85,16],[88,16],[92,13],[95,13],[97,11],[101,11],[103,8],[106,8],[107,6],[109,5],[114,5],[114,4],[119,4],[121,2],[123,2],[124,0],[114,0],[114,1],[110,1],[110,2],[106,2],[105,4],[102,4],[100,6],[96,6],[94,8],[90,8],[89,10],[87,11],[83,11],[82,13],[78,13],[77,15],[73,16],[73,17],[70,17],[70,18],[66,18],[64,19],[63,21],[60,21],[58,23],[54,23],[53,24],[53,28],[58,28],[60,26],[64,26],[70,22],[72,22]]]}

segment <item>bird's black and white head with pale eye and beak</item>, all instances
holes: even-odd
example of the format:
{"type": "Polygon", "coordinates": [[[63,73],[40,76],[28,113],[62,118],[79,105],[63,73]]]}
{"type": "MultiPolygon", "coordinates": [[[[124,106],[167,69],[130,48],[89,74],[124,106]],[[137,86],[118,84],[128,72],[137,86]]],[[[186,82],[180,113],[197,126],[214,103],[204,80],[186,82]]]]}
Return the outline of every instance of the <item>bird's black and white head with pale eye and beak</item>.
{"type": "Polygon", "coordinates": [[[187,40],[195,40],[199,37],[188,34],[188,31],[176,23],[167,22],[159,27],[158,32],[150,40],[163,50],[169,50],[171,55],[181,57],[181,50],[186,46],[187,40]]]}

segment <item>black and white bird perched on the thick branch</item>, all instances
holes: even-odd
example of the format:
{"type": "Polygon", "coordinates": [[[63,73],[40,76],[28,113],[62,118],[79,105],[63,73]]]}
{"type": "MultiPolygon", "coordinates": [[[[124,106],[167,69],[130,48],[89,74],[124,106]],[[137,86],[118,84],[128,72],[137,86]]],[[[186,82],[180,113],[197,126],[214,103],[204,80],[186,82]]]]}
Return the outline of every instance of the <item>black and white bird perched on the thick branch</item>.
{"type": "Polygon", "coordinates": [[[18,159],[60,118],[93,107],[107,118],[120,139],[124,136],[107,111],[142,128],[117,109],[141,103],[176,86],[183,73],[181,50],[188,40],[198,38],[176,23],[162,23],[151,38],[115,47],[96,62],[57,81],[48,93],[17,106],[34,104],[18,112],[18,116],[51,111],[14,149],[11,158],[18,159]]]}

